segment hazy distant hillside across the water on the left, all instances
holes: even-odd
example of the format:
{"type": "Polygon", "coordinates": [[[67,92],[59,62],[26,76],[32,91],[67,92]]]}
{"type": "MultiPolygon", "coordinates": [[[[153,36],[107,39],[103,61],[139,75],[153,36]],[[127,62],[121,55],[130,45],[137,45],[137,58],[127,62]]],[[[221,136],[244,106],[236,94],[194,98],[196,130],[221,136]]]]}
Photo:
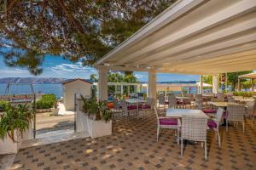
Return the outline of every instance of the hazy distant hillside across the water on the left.
{"type": "Polygon", "coordinates": [[[0,78],[0,83],[34,83],[34,84],[59,84],[65,82],[65,78],[40,78],[40,77],[6,77],[0,78]]]}

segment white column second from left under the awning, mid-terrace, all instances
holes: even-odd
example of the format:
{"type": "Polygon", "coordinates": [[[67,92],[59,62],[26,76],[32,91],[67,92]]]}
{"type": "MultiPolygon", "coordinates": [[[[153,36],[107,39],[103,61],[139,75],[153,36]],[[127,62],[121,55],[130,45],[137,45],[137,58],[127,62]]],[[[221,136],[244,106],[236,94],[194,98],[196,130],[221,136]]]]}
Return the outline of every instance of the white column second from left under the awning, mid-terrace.
{"type": "Polygon", "coordinates": [[[156,71],[148,72],[148,98],[152,98],[156,105],[156,71]]]}

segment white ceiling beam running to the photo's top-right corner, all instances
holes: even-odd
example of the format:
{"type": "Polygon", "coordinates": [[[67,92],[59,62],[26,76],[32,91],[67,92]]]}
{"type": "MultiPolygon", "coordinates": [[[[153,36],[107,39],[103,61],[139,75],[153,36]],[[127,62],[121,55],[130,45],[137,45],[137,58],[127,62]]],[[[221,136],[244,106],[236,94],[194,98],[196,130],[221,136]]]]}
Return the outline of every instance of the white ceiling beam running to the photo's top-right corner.
{"type": "Polygon", "coordinates": [[[218,26],[223,24],[227,20],[234,19],[241,14],[245,14],[251,11],[256,6],[256,1],[252,0],[244,0],[239,1],[231,5],[228,8],[224,8],[223,10],[218,11],[211,16],[196,22],[195,24],[185,27],[180,31],[174,32],[170,36],[164,37],[157,42],[151,43],[150,45],[142,48],[132,54],[125,56],[125,58],[120,58],[115,65],[123,65],[125,62],[135,59],[143,54],[146,54],[150,51],[154,51],[157,48],[160,48],[166,44],[172,44],[173,42],[177,42],[188,37],[191,37],[197,33],[202,31],[206,31],[207,29],[212,28],[213,26],[218,26]]]}

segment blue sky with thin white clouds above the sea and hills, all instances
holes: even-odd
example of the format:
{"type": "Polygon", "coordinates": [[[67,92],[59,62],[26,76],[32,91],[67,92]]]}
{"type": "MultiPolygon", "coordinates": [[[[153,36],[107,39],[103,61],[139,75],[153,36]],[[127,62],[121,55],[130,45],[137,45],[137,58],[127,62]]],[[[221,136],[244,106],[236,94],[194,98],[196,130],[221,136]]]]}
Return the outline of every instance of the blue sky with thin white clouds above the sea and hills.
{"type": "MultiPolygon", "coordinates": [[[[60,56],[48,55],[44,59],[44,71],[38,77],[62,77],[62,78],[89,78],[91,74],[97,74],[96,69],[83,66],[81,62],[73,63],[60,56]]],[[[135,76],[139,81],[147,82],[147,72],[135,72],[135,76]]],[[[0,55],[0,78],[3,77],[34,77],[24,68],[9,68],[3,62],[3,56],[0,55]]],[[[157,75],[158,82],[168,81],[192,81],[199,80],[199,76],[195,75],[177,75],[163,74],[157,75]]]]}

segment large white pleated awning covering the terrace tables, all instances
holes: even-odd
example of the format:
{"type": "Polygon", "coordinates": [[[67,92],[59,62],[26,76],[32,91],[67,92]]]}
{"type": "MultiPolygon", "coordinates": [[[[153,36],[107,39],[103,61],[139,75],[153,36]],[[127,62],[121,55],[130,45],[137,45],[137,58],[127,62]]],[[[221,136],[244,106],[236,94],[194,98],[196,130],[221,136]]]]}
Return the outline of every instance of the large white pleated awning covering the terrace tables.
{"type": "Polygon", "coordinates": [[[180,0],[96,66],[198,75],[255,70],[255,16],[255,0],[180,0]]]}

